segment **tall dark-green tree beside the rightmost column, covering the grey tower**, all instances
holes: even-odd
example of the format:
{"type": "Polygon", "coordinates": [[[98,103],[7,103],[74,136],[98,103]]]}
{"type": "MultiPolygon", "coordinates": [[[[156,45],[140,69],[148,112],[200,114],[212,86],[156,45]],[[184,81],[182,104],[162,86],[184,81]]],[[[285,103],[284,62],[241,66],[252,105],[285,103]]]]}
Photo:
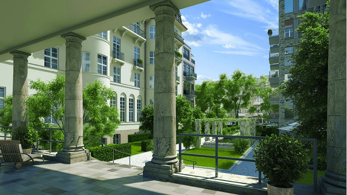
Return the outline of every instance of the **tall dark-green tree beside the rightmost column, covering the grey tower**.
{"type": "Polygon", "coordinates": [[[298,137],[317,138],[323,143],[319,152],[325,153],[330,9],[306,12],[299,18],[297,32],[302,33],[302,42],[291,57],[296,65],[289,69],[290,78],[280,89],[284,97],[291,98],[300,122],[293,132],[298,137]]]}

